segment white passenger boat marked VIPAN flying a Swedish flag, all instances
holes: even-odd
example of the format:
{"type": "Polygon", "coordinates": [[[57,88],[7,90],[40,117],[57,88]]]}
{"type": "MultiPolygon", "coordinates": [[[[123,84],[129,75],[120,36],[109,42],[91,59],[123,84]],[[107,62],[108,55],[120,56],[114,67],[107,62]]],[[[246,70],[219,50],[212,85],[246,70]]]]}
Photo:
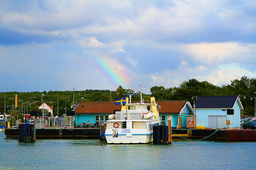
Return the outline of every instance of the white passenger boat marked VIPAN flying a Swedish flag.
{"type": "MultiPolygon", "coordinates": [[[[132,103],[133,94],[126,94],[126,104],[115,116],[110,115],[104,136],[108,144],[146,144],[153,142],[153,126],[160,125],[160,117],[155,97],[150,103],[142,100],[142,85],[140,86],[140,102],[132,103]],[[130,100],[129,100],[130,99],[130,100]]],[[[160,107],[159,107],[160,108],[160,107]]]]}

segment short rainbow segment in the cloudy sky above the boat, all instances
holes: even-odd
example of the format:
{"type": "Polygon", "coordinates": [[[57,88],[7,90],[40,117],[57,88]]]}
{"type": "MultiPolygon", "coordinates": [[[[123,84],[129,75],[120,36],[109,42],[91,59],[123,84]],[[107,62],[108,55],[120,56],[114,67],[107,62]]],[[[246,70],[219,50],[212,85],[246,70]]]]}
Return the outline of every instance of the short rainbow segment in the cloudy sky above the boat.
{"type": "Polygon", "coordinates": [[[114,58],[106,55],[92,55],[92,63],[94,66],[100,70],[103,77],[105,77],[108,82],[110,82],[114,88],[122,85],[126,88],[129,83],[129,76],[127,75],[127,70],[114,58]]]}

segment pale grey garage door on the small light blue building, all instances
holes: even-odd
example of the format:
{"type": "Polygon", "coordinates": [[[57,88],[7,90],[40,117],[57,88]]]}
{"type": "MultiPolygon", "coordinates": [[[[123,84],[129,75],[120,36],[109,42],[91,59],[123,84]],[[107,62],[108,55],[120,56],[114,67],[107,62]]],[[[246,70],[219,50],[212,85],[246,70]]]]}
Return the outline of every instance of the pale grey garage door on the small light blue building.
{"type": "Polygon", "coordinates": [[[226,116],[209,116],[208,128],[223,129],[226,127],[226,116]]]}

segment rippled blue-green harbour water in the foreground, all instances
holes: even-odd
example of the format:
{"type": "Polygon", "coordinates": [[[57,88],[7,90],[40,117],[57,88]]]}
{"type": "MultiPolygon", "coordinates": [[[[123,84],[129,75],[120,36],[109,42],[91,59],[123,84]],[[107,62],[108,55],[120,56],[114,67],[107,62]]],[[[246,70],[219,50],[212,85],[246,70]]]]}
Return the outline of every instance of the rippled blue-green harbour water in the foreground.
{"type": "Polygon", "coordinates": [[[102,145],[89,139],[18,142],[0,133],[0,169],[254,169],[256,142],[102,145]]]}

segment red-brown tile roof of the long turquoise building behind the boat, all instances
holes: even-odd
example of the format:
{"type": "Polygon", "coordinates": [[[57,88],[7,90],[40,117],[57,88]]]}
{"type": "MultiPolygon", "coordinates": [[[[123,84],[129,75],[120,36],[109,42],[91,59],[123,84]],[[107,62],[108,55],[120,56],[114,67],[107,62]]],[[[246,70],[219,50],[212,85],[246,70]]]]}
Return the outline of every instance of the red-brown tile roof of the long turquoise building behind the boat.
{"type": "MultiPolygon", "coordinates": [[[[139,101],[132,101],[137,103],[139,101]]],[[[187,101],[156,101],[161,106],[159,113],[180,113],[187,101]]],[[[75,113],[108,113],[113,114],[114,110],[121,110],[121,105],[115,102],[80,102],[75,108],[75,113]]],[[[150,103],[145,101],[144,103],[150,103]]]]}

